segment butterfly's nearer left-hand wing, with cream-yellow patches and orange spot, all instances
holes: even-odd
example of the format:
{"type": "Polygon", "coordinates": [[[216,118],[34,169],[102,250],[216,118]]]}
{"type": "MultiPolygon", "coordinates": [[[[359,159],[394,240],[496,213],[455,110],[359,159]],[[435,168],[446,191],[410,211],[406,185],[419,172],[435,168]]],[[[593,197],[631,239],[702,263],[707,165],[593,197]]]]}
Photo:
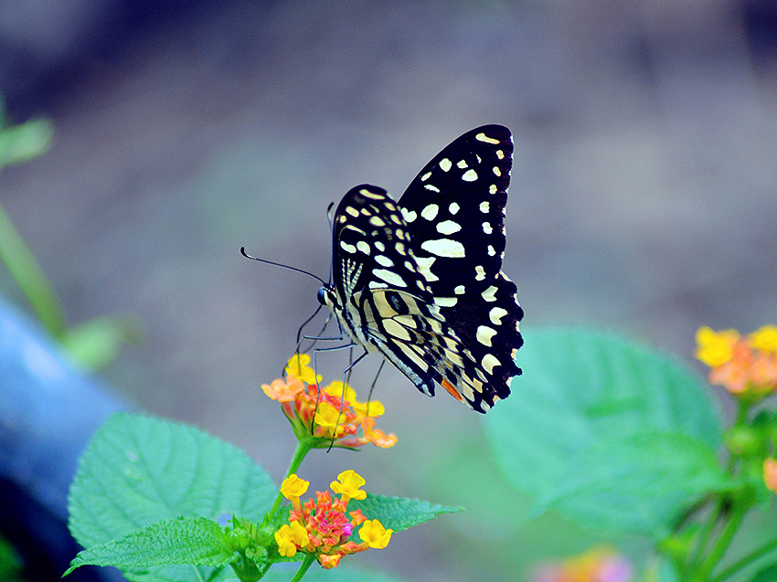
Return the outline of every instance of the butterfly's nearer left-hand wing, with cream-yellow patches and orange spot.
{"type": "Polygon", "coordinates": [[[325,288],[325,304],[352,339],[384,354],[421,392],[432,396],[435,382],[447,383],[453,396],[484,412],[493,404],[481,396],[485,377],[434,302],[412,249],[385,190],[351,189],[335,212],[335,284],[325,288]]]}

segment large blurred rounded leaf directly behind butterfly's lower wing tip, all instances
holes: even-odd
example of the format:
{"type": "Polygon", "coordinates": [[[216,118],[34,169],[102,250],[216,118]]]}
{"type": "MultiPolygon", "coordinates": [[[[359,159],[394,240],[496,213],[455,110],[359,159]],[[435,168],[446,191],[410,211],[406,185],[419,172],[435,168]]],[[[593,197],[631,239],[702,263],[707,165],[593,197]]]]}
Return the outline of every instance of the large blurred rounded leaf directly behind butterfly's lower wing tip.
{"type": "Polygon", "coordinates": [[[556,328],[524,335],[517,360],[524,375],[485,425],[516,488],[548,499],[583,471],[587,450],[643,433],[686,435],[717,450],[718,413],[687,365],[612,333],[556,328]]]}

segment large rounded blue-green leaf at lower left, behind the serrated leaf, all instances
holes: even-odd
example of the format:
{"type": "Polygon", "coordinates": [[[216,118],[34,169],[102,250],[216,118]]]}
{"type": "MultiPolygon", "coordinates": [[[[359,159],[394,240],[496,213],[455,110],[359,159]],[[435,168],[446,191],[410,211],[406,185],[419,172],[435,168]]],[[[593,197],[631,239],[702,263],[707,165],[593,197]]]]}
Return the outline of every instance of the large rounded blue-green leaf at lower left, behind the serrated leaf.
{"type": "MultiPolygon", "coordinates": [[[[259,521],[276,492],[267,473],[229,443],[173,422],[117,414],[79,460],[69,529],[80,545],[92,547],[176,516],[237,514],[259,521]]],[[[198,569],[162,566],[125,575],[157,582],[211,579],[211,569],[198,569]]]]}

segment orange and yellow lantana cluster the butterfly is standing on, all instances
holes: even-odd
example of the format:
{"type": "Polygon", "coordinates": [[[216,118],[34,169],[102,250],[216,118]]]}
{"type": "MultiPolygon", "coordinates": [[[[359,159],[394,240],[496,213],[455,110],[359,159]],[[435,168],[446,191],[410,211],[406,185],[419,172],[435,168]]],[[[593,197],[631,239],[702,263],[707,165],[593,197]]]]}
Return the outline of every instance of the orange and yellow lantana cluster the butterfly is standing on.
{"type": "Polygon", "coordinates": [[[359,402],[356,392],[343,382],[320,387],[321,376],[309,364],[309,355],[294,355],[286,365],[285,380],[261,385],[268,397],[281,403],[297,438],[320,439],[320,447],[355,448],[371,442],[389,449],[397,443],[395,435],[375,428],[384,413],[380,402],[359,402]]]}

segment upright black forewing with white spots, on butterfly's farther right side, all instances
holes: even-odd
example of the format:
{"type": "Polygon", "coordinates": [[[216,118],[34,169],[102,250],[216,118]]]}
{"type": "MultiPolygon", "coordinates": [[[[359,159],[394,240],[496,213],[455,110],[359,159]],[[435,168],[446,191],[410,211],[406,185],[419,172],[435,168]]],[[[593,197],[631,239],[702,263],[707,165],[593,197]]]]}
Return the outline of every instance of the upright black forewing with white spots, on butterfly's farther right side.
{"type": "Polygon", "coordinates": [[[438,153],[399,198],[436,298],[483,291],[501,269],[512,166],[510,131],[486,125],[438,153]]]}

